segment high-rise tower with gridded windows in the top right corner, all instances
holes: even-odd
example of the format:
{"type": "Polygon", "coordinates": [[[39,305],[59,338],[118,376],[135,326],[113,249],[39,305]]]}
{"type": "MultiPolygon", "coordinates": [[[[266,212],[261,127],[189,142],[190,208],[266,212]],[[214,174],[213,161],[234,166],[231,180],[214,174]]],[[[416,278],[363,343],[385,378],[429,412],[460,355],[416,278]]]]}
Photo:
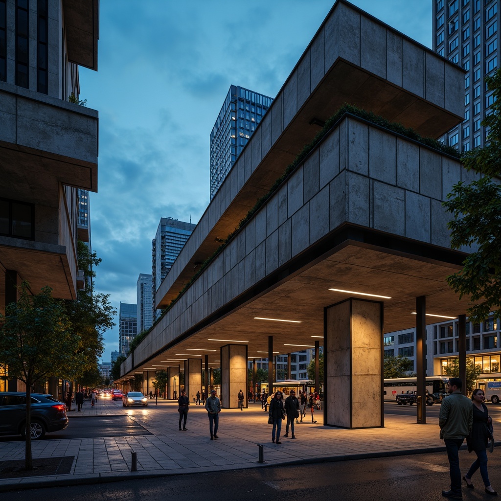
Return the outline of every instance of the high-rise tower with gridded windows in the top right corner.
{"type": "MultiPolygon", "coordinates": [[[[483,146],[480,122],[490,112],[492,92],[485,77],[498,68],[500,12],[497,0],[433,0],[433,50],[466,70],[464,122],[450,129],[444,142],[459,151],[483,146]]],[[[437,79],[443,76],[437,75],[437,79]]],[[[448,85],[445,80],[445,85],[448,85]]]]}

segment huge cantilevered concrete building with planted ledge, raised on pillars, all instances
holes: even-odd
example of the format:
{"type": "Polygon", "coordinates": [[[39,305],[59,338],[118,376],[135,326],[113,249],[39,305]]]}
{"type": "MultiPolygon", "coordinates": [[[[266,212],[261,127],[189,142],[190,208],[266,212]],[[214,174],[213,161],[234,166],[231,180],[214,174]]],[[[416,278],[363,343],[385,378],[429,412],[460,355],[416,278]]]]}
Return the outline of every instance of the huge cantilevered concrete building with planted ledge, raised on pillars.
{"type": "Polygon", "coordinates": [[[208,374],[220,365],[222,404],[235,407],[249,359],[264,353],[271,365],[274,354],[323,347],[323,423],[384,426],[384,333],[417,327],[424,346],[426,313],[466,310],[446,277],[468,249],[450,248],[442,201],[473,176],[456,157],[349,112],[311,142],[346,102],[439,138],[463,120],[463,81],[455,64],[338,0],[157,289],[156,307],[191,285],[124,361],[118,384],[156,368],[172,378],[183,364],[190,394],[202,366],[208,374]]]}

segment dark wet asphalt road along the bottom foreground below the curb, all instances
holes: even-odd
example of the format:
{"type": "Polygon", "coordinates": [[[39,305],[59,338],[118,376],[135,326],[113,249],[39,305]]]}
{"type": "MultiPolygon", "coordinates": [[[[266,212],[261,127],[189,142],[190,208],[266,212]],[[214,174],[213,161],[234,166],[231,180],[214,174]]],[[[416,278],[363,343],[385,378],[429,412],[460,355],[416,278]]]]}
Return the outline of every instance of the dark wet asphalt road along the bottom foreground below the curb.
{"type": "MultiPolygon", "coordinates": [[[[311,444],[312,447],[315,444],[311,444]]],[[[460,452],[465,473],[474,453],[460,452]]],[[[501,447],[488,454],[488,470],[495,489],[501,491],[501,447]]],[[[227,501],[311,499],[336,501],[442,501],[447,489],[449,466],[445,452],[378,459],[361,459],[303,466],[278,466],[236,471],[175,475],[146,480],[127,480],[17,491],[4,494],[9,501],[88,501],[89,498],[115,501],[165,501],[203,499],[227,501]]],[[[473,475],[473,490],[463,488],[463,499],[485,499],[479,472],[473,475]]],[[[490,498],[490,496],[489,496],[490,498]]]]}

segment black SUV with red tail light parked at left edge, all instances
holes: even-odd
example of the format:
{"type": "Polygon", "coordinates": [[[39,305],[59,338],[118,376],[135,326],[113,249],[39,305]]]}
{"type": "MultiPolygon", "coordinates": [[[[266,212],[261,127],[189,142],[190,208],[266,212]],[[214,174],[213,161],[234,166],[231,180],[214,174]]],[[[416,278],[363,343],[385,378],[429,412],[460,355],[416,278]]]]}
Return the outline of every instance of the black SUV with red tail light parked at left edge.
{"type": "MultiPolygon", "coordinates": [[[[47,431],[59,431],[68,426],[66,405],[52,395],[31,394],[32,440],[42,438],[47,431]]],[[[26,434],[26,393],[0,392],[0,434],[26,434]]]]}

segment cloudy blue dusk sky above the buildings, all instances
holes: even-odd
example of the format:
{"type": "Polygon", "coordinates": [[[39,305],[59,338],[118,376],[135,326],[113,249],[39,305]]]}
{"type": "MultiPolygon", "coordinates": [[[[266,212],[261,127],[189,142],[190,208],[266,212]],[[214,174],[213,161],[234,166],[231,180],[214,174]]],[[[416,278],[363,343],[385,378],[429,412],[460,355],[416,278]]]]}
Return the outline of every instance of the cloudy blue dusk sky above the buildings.
{"type": "MultiPolygon", "coordinates": [[[[431,0],[353,0],[431,47],[431,0]]],[[[275,97],[333,0],[106,0],[99,71],[80,99],[99,110],[99,185],[91,193],[96,289],[136,303],[160,217],[197,222],[209,201],[209,134],[230,84],[275,97]]],[[[117,326],[102,360],[118,350],[117,326]]]]}

